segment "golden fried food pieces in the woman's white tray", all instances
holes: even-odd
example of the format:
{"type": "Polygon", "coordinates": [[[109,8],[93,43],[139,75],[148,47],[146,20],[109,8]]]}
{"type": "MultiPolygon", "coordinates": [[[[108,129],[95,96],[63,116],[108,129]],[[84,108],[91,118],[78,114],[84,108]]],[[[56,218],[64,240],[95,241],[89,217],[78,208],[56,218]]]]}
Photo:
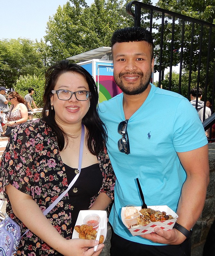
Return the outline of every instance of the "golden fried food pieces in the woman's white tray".
{"type": "MultiPolygon", "coordinates": [[[[81,239],[96,240],[97,231],[93,229],[93,226],[82,224],[76,225],[74,229],[79,233],[78,237],[81,239]]],[[[99,244],[103,243],[104,236],[100,235],[99,244]]]]}

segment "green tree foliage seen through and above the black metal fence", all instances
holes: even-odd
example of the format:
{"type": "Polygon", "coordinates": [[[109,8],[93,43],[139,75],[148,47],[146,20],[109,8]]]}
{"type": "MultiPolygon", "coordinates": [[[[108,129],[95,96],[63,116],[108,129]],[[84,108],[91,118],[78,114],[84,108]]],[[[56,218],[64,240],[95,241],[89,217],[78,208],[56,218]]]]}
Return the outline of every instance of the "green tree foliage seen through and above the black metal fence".
{"type": "MultiPolygon", "coordinates": [[[[190,16],[196,19],[203,20],[208,23],[215,24],[215,1],[210,0],[159,0],[156,4],[158,7],[183,14],[185,16],[190,16]]],[[[149,27],[149,11],[142,11],[142,25],[149,27]]],[[[182,43],[182,24],[183,20],[176,18],[175,26],[173,29],[172,18],[168,15],[164,15],[164,27],[161,25],[161,14],[153,13],[153,35],[154,44],[160,45],[161,43],[161,33],[163,33],[163,53],[161,60],[161,74],[163,75],[164,70],[170,66],[170,58],[172,55],[172,65],[176,66],[180,63],[181,57],[181,43],[182,43]],[[163,29],[163,31],[162,31],[163,29]],[[174,33],[174,39],[172,42],[172,32],[174,33]],[[171,46],[173,45],[174,51],[171,52],[171,46]]],[[[198,83],[201,87],[207,85],[207,95],[212,96],[213,87],[213,76],[215,68],[215,29],[212,28],[211,33],[211,48],[208,49],[209,42],[209,27],[203,26],[201,28],[200,24],[195,24],[192,31],[192,23],[185,21],[185,34],[184,34],[184,46],[183,46],[183,61],[181,63],[184,72],[187,75],[187,88],[188,85],[192,88],[193,83],[193,73],[187,73],[190,69],[190,63],[192,60],[191,70],[198,77],[198,83]],[[200,34],[202,29],[202,39],[200,40],[200,34]],[[193,45],[191,44],[193,42],[193,45]],[[201,55],[200,55],[201,48],[201,55]],[[207,66],[209,54],[209,66],[207,66]],[[200,62],[199,62],[200,60],[200,62]]],[[[155,49],[154,55],[156,56],[155,72],[159,70],[160,62],[160,49],[157,47],[155,49]]],[[[161,84],[164,84],[163,76],[161,75],[161,84]]],[[[184,74],[183,74],[184,76],[184,74]]],[[[174,79],[174,78],[172,78],[174,79]]],[[[182,77],[183,80],[183,77],[182,77]]],[[[197,82],[196,82],[197,84],[197,82]]],[[[172,87],[174,89],[174,86],[172,87]]],[[[187,89],[188,90],[188,89],[187,89]]]]}

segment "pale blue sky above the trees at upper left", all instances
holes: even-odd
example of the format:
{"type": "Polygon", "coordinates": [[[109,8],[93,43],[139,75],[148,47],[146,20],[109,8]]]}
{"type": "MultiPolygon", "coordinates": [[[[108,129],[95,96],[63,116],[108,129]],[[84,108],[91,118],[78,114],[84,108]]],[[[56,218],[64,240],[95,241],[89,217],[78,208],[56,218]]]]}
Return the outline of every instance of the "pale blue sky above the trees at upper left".
{"type": "MultiPolygon", "coordinates": [[[[43,39],[49,16],[67,0],[0,0],[0,40],[43,39]]],[[[93,0],[86,1],[90,5],[93,0]]]]}

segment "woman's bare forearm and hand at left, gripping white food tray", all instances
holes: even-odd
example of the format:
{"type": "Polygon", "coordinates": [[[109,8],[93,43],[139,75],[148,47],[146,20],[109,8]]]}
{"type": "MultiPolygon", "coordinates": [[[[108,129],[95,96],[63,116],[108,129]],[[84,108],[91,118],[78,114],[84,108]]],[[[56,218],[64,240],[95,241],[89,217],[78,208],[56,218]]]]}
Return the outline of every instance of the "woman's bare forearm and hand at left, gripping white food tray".
{"type": "Polygon", "coordinates": [[[64,256],[97,256],[104,247],[103,244],[100,244],[97,251],[94,252],[94,248],[89,247],[97,245],[99,241],[65,239],[42,213],[39,205],[30,195],[21,192],[13,185],[7,185],[6,192],[11,202],[13,213],[31,232],[64,256]],[[34,220],[37,221],[35,222],[34,220]]]}

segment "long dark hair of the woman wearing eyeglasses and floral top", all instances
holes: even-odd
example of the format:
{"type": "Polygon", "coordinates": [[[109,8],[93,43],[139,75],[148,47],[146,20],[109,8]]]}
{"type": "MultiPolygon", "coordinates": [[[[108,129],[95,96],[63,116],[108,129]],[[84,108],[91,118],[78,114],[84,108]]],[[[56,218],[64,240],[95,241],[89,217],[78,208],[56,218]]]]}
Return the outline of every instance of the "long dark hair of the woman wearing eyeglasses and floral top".
{"type": "Polygon", "coordinates": [[[45,89],[43,94],[43,111],[42,116],[43,120],[52,128],[52,131],[57,137],[58,147],[63,150],[66,140],[66,146],[68,144],[68,134],[59,127],[55,121],[55,110],[51,109],[51,100],[52,95],[51,90],[54,90],[57,79],[59,76],[65,72],[74,72],[82,75],[89,85],[91,92],[90,98],[90,108],[87,114],[83,117],[82,123],[88,129],[87,133],[87,146],[91,154],[98,155],[99,151],[103,150],[103,142],[107,141],[107,131],[104,126],[104,123],[101,121],[98,115],[98,99],[99,94],[96,87],[96,83],[93,77],[88,71],[86,71],[82,66],[69,63],[67,60],[60,61],[50,67],[46,72],[46,82],[45,89]]]}

